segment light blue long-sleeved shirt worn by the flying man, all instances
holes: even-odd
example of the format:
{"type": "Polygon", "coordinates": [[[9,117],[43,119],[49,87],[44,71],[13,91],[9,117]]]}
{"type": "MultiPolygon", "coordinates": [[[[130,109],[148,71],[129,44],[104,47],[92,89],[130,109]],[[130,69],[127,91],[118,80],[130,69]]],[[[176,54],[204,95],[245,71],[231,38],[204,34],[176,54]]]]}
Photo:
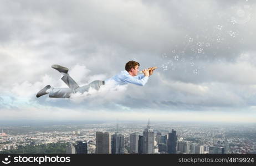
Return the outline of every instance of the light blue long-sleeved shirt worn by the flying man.
{"type": "Polygon", "coordinates": [[[112,76],[110,79],[105,80],[105,84],[111,84],[113,82],[115,85],[125,85],[128,83],[144,86],[149,80],[148,76],[140,74],[137,76],[131,76],[126,70],[121,71],[119,74],[112,76]]]}

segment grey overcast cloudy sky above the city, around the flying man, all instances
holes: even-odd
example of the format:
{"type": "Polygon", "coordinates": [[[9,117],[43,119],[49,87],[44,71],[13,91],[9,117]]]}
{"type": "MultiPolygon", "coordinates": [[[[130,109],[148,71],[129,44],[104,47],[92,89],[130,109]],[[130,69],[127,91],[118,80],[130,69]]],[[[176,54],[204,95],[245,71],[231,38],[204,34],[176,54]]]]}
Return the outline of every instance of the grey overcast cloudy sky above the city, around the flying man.
{"type": "Polygon", "coordinates": [[[0,112],[5,120],[256,122],[254,1],[1,1],[0,112]],[[158,69],[144,86],[40,98],[105,80],[129,60],[158,69]]]}

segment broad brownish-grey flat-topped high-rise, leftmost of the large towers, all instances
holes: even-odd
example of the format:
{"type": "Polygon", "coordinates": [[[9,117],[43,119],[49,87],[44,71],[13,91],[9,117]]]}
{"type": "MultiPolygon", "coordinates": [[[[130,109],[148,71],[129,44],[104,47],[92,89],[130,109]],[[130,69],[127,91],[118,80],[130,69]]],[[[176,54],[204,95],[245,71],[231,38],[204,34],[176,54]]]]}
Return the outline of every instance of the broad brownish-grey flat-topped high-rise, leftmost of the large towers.
{"type": "Polygon", "coordinates": [[[111,137],[107,132],[96,132],[96,154],[111,153],[111,137]]]}

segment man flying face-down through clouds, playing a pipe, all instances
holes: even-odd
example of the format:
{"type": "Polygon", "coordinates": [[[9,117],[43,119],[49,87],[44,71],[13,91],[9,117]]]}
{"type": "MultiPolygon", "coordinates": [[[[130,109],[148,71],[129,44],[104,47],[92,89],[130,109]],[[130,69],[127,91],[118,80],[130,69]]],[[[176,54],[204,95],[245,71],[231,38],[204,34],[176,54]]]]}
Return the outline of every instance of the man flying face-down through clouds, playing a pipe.
{"type": "Polygon", "coordinates": [[[60,65],[52,65],[53,69],[58,70],[62,75],[62,80],[68,85],[69,88],[53,88],[50,85],[45,86],[42,90],[37,93],[37,97],[49,94],[49,97],[54,98],[70,98],[71,94],[80,92],[83,94],[86,91],[89,91],[89,88],[94,88],[96,90],[100,89],[100,86],[107,84],[114,85],[125,85],[128,83],[144,86],[149,80],[149,76],[153,74],[153,71],[156,67],[144,69],[141,75],[137,75],[139,71],[140,64],[136,61],[129,61],[125,65],[125,70],[121,71],[118,75],[111,77],[105,81],[95,80],[88,85],[79,86],[76,82],[69,76],[68,68],[65,68],[60,65]]]}

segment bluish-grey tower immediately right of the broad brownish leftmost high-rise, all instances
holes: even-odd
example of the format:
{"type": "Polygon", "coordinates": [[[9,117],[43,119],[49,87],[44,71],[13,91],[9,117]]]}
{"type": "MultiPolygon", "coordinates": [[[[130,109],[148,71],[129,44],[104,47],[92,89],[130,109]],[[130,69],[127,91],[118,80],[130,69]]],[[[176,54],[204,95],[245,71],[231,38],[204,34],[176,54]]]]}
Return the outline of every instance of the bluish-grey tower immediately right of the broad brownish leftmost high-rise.
{"type": "Polygon", "coordinates": [[[111,153],[112,154],[124,154],[125,153],[125,141],[124,136],[119,133],[115,133],[111,136],[111,153]]]}

